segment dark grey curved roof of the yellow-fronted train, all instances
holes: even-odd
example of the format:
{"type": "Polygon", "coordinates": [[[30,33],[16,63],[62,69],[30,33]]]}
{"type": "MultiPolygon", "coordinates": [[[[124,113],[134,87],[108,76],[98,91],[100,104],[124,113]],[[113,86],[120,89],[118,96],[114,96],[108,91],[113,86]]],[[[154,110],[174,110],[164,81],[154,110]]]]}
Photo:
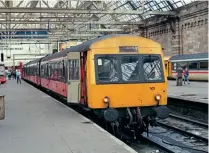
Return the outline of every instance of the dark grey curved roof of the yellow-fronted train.
{"type": "Polygon", "coordinates": [[[42,61],[47,61],[50,59],[54,59],[54,58],[59,58],[59,57],[63,57],[66,56],[67,53],[69,52],[85,52],[88,51],[91,47],[92,44],[104,40],[104,39],[108,39],[108,38],[112,38],[112,37],[119,37],[119,36],[133,36],[131,34],[112,34],[112,35],[105,35],[105,36],[101,36],[95,39],[91,39],[88,41],[85,41],[77,46],[72,46],[70,48],[66,48],[64,51],[61,52],[57,52],[55,54],[49,55],[48,57],[45,57],[42,59],[42,61]]]}

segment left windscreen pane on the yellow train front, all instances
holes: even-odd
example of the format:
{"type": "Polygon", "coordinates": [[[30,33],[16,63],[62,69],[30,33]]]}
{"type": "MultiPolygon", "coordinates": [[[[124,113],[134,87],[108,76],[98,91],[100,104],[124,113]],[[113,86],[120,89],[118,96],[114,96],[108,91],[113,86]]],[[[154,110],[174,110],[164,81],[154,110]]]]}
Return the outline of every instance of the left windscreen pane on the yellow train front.
{"type": "Polygon", "coordinates": [[[119,80],[117,60],[115,57],[97,58],[97,74],[99,81],[116,82],[119,80]]]}

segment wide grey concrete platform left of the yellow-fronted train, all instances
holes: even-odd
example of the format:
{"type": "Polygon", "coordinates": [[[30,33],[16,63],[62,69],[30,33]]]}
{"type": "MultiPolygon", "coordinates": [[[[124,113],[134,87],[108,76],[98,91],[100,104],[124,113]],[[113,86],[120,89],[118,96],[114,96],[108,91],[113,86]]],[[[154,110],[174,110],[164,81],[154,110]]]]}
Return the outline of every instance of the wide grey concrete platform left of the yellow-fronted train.
{"type": "Polygon", "coordinates": [[[0,153],[135,153],[120,140],[55,99],[22,82],[0,86],[6,118],[0,153]]]}

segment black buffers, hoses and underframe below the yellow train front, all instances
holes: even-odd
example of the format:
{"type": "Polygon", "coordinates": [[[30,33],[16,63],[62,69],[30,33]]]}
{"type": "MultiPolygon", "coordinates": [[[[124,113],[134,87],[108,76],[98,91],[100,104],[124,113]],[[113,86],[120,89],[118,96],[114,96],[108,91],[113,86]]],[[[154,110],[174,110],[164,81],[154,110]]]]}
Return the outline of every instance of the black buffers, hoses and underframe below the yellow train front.
{"type": "Polygon", "coordinates": [[[100,119],[103,118],[106,128],[120,139],[138,139],[149,126],[156,126],[156,118],[165,119],[169,115],[166,106],[107,108],[94,110],[100,119]]]}

